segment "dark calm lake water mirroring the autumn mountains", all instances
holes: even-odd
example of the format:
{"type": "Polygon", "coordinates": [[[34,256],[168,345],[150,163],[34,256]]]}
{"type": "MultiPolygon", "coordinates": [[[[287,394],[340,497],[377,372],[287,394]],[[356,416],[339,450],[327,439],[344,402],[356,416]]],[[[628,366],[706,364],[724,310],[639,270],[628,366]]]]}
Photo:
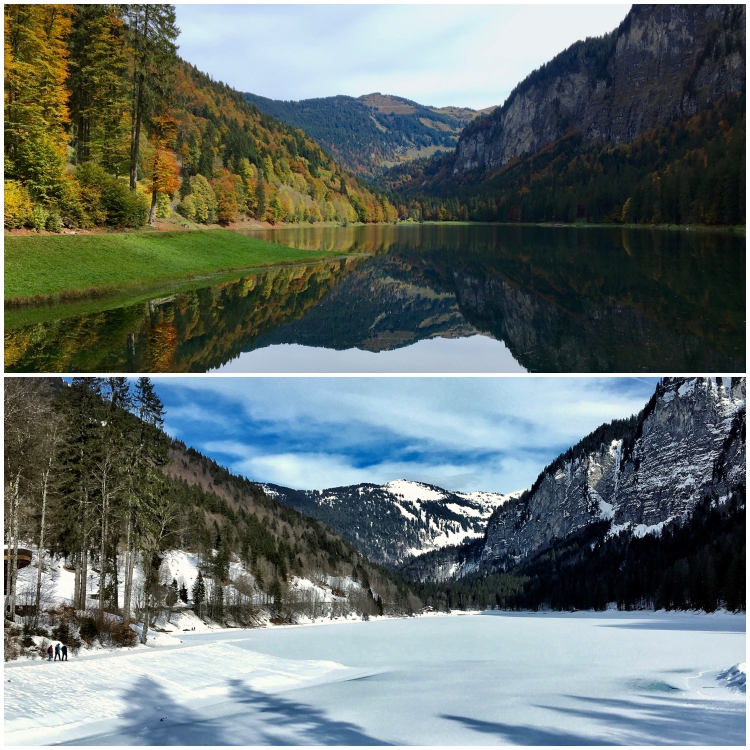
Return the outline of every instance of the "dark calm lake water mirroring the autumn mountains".
{"type": "Polygon", "coordinates": [[[252,234],[347,257],[111,309],[7,311],[6,372],[746,369],[744,237],[448,224],[252,234]]]}

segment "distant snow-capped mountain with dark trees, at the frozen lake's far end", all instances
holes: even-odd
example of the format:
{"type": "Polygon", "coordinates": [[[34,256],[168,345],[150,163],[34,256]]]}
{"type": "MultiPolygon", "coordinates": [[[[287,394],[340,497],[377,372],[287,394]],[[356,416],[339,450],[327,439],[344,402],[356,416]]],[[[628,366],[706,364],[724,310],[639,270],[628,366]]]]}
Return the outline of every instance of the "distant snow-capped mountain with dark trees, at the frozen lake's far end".
{"type": "Polygon", "coordinates": [[[384,565],[482,537],[492,513],[513,497],[449,492],[405,479],[322,491],[271,484],[263,488],[284,505],[324,521],[363,555],[384,565]]]}

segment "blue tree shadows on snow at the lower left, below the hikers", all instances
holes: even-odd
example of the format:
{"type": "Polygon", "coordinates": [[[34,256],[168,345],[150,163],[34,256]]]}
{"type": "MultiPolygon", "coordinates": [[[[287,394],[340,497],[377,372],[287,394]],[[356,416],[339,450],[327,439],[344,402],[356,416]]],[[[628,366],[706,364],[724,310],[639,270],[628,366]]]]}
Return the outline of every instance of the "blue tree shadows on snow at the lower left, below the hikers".
{"type": "Polygon", "coordinates": [[[230,680],[224,698],[199,711],[176,703],[157,682],[141,677],[127,692],[128,711],[112,730],[69,745],[385,745],[356,724],[282,695],[230,680]]]}

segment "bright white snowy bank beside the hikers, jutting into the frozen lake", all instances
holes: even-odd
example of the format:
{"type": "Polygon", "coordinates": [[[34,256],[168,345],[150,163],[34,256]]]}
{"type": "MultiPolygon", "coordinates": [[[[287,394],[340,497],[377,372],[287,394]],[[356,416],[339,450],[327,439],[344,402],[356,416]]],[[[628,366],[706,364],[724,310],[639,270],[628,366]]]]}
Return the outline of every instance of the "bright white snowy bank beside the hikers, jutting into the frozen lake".
{"type": "MultiPolygon", "coordinates": [[[[226,702],[233,689],[274,693],[352,673],[334,662],[289,660],[231,641],[100,652],[68,663],[6,664],[5,744],[48,744],[112,731],[140,715],[148,723],[226,702]],[[164,700],[160,699],[164,696],[164,700]]],[[[164,644],[167,645],[167,644],[164,644]]],[[[189,742],[186,744],[190,744],[189,742]]]]}

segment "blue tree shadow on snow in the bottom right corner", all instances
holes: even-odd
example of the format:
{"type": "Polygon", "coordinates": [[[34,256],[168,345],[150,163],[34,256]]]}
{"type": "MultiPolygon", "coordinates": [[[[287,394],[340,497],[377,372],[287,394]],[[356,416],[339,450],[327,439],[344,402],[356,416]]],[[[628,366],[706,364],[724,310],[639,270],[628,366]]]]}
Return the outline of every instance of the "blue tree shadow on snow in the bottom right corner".
{"type": "Polygon", "coordinates": [[[729,701],[570,696],[591,706],[551,711],[600,722],[625,744],[745,745],[745,706],[729,701]]]}

